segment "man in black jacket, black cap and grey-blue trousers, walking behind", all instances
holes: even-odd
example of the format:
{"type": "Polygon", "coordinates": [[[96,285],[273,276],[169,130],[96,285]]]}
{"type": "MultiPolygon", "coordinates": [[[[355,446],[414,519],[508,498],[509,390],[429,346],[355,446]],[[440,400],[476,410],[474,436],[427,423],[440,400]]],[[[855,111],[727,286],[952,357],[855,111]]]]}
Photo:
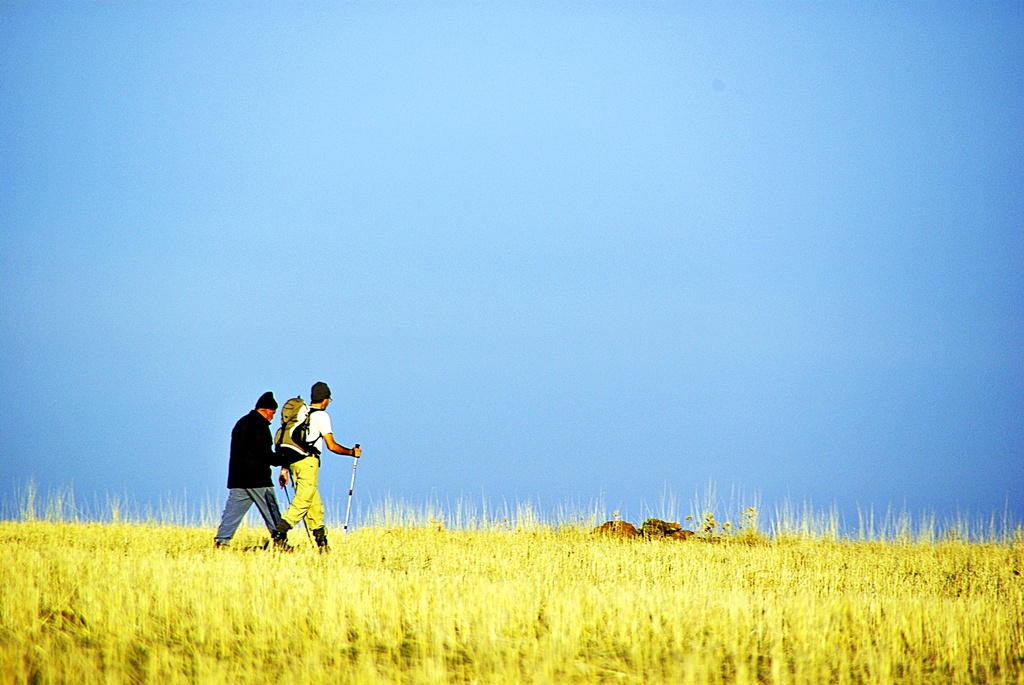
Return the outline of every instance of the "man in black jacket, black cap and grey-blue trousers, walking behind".
{"type": "Polygon", "coordinates": [[[270,466],[276,461],[270,422],[276,412],[278,401],[273,393],[264,392],[257,400],[256,409],[234,424],[231,458],[227,464],[227,504],[214,538],[217,547],[224,547],[230,542],[252,505],[256,505],[271,533],[281,520],[278,498],[270,480],[270,466]]]}

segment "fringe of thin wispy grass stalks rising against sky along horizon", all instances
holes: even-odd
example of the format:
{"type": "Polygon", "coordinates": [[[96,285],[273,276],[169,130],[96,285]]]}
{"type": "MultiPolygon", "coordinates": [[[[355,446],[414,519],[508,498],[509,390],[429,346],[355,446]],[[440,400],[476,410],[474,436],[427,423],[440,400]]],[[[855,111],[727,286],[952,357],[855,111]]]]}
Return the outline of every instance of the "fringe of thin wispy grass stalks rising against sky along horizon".
{"type": "MultiPolygon", "coordinates": [[[[286,502],[279,495],[281,508],[286,502]]],[[[329,527],[340,528],[347,502],[327,502],[329,527]]],[[[73,487],[38,491],[29,480],[15,488],[13,503],[0,506],[0,518],[20,521],[147,523],[157,525],[214,527],[220,520],[223,496],[189,498],[187,493],[168,494],[156,505],[139,504],[132,496],[93,495],[90,500],[77,498],[73,487]]],[[[835,505],[817,508],[810,502],[783,500],[770,508],[763,507],[760,497],[748,496],[731,487],[727,497],[718,494],[714,483],[694,491],[688,502],[666,487],[656,507],[639,502],[635,509],[639,525],[654,517],[677,521],[684,528],[722,538],[742,536],[769,540],[810,539],[898,544],[964,541],[974,543],[1012,544],[1024,540],[1022,524],[1009,511],[987,515],[957,512],[939,517],[923,510],[916,515],[905,509],[887,507],[883,513],[873,508],[858,509],[856,522],[846,521],[835,505]]],[[[458,530],[532,529],[562,526],[592,527],[611,519],[630,520],[629,514],[608,510],[604,498],[589,502],[564,501],[545,509],[539,502],[488,501],[467,497],[427,498],[410,500],[385,495],[369,498],[364,503],[356,498],[352,508],[350,528],[368,527],[436,527],[458,530]]],[[[262,523],[255,511],[249,512],[246,524],[260,528],[262,523]]]]}

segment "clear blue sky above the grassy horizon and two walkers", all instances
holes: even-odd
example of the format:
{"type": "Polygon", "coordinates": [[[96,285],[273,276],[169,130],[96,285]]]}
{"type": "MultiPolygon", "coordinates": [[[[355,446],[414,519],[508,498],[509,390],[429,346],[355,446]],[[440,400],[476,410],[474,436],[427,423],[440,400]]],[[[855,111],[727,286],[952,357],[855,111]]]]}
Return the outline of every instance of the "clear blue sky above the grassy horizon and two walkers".
{"type": "Polygon", "coordinates": [[[0,45],[4,498],[222,501],[324,380],[364,498],[1024,519],[1020,2],[15,2],[0,45]]]}

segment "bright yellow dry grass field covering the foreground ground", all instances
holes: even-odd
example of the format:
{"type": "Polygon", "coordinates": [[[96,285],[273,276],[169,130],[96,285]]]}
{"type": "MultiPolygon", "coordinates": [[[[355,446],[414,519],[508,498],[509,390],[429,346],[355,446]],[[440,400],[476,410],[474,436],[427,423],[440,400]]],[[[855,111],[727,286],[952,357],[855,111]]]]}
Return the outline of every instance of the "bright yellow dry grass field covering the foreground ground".
{"type": "Polygon", "coordinates": [[[1020,683],[1024,544],[0,523],[2,683],[1020,683]]]}

